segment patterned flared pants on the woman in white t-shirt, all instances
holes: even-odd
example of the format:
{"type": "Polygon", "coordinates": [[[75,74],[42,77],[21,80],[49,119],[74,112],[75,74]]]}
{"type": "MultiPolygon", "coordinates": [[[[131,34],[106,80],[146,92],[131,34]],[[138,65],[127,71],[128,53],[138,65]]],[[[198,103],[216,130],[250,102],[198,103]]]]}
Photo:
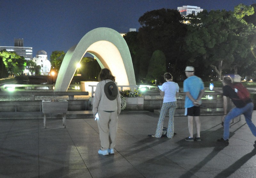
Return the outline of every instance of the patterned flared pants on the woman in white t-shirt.
{"type": "Polygon", "coordinates": [[[174,134],[173,117],[174,117],[175,109],[176,109],[176,101],[163,103],[163,106],[162,106],[161,112],[160,112],[160,116],[159,116],[159,120],[157,123],[155,137],[160,138],[162,136],[164,118],[165,118],[165,114],[168,110],[169,110],[169,123],[168,123],[168,128],[167,128],[166,132],[167,132],[168,138],[173,137],[173,134],[174,134]]]}

